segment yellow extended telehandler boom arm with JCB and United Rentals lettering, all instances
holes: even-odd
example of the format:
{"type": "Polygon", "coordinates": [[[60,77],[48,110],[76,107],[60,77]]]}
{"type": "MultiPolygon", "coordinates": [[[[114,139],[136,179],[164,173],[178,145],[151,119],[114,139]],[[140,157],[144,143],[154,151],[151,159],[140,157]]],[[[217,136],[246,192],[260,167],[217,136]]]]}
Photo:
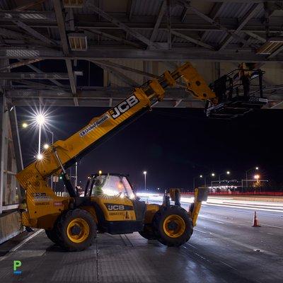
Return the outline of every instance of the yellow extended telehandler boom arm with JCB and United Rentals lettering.
{"type": "MultiPolygon", "coordinates": [[[[158,79],[153,79],[136,88],[134,92],[115,108],[108,110],[99,117],[94,117],[86,127],[80,129],[68,139],[56,141],[50,149],[44,153],[42,161],[35,161],[23,169],[16,176],[19,183],[25,190],[37,192],[39,187],[47,186],[46,178],[64,168],[73,165],[77,159],[98,146],[101,141],[125,127],[132,120],[137,119],[157,101],[164,97],[167,86],[174,86],[177,79],[183,77],[187,83],[187,88],[200,100],[210,100],[214,103],[215,94],[207,86],[202,76],[190,63],[183,64],[172,73],[166,71],[158,79]],[[64,168],[62,168],[64,166],[64,168]]],[[[67,190],[71,197],[76,196],[76,192],[68,185],[68,176],[64,174],[64,181],[67,183],[67,190]]]]}

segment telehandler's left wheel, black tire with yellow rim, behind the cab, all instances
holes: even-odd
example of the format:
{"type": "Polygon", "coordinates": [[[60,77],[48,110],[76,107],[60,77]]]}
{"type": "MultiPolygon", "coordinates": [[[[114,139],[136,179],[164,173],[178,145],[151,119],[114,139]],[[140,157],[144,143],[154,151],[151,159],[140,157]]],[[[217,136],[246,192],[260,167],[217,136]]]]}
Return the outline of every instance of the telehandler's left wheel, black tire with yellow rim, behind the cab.
{"type": "Polygon", "coordinates": [[[59,245],[68,251],[85,250],[95,241],[96,233],[93,216],[83,209],[69,210],[57,223],[59,245]]]}

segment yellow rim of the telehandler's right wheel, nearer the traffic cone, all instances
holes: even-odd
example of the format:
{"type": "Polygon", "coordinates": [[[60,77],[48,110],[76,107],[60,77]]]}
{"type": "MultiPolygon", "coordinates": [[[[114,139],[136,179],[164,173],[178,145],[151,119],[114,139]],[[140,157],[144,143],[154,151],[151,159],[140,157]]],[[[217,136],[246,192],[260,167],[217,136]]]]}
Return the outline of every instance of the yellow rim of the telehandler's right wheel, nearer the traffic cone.
{"type": "Polygon", "coordinates": [[[178,238],[182,236],[185,232],[184,219],[177,214],[167,216],[163,221],[163,231],[171,238],[178,238]]]}

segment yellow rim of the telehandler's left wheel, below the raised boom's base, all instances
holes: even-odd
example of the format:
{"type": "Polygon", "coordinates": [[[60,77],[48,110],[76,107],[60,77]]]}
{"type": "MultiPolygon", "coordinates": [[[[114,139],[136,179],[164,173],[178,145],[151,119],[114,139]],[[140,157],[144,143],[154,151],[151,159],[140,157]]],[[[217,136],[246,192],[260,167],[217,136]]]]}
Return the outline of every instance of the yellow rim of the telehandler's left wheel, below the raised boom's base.
{"type": "Polygon", "coordinates": [[[86,220],[81,218],[73,219],[67,226],[67,236],[74,243],[86,241],[89,235],[89,226],[86,220]]]}

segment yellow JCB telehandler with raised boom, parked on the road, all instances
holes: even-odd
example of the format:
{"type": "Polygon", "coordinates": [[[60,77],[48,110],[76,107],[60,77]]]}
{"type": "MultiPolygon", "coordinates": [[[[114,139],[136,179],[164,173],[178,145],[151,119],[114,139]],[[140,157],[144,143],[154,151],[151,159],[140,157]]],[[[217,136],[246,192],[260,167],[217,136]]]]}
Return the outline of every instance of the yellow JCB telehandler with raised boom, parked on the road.
{"type": "MultiPolygon", "coordinates": [[[[188,241],[196,224],[201,202],[205,200],[204,189],[195,191],[195,202],[186,212],[180,207],[178,190],[171,190],[170,196],[166,194],[163,204],[145,204],[134,197],[127,177],[118,174],[91,177],[90,181],[94,183],[89,192],[86,191],[84,197],[79,197],[66,171],[105,139],[151,110],[152,106],[163,100],[164,88],[174,86],[176,80],[181,78],[195,99],[208,101],[209,111],[217,115],[219,95],[207,86],[202,76],[188,62],[173,72],[166,71],[158,79],[135,88],[115,108],[100,117],[94,117],[86,127],[68,139],[56,141],[43,152],[42,160],[31,163],[16,175],[18,182],[26,190],[28,211],[22,214],[23,225],[45,229],[54,243],[70,251],[91,246],[97,231],[138,231],[145,238],[156,238],[167,246],[180,246],[188,241]],[[47,178],[61,173],[69,192],[68,197],[58,197],[47,185],[47,178]],[[175,205],[171,205],[169,197],[175,205]]],[[[229,106],[230,113],[232,106],[229,103],[226,105],[229,106]]],[[[221,115],[224,115],[226,105],[221,106],[221,115]]],[[[258,102],[251,101],[245,108],[253,109],[255,106],[259,107],[258,102]]],[[[236,112],[239,108],[241,103],[237,105],[236,112]]]]}

